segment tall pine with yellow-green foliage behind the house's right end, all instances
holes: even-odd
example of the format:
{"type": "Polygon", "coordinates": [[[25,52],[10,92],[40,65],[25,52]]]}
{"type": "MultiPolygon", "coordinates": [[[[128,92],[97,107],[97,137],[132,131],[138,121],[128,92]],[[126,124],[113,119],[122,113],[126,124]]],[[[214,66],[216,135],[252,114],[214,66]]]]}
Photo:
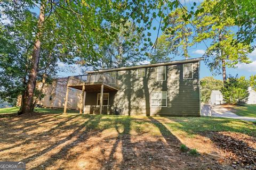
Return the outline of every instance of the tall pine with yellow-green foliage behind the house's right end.
{"type": "Polygon", "coordinates": [[[210,70],[216,74],[221,74],[223,82],[226,82],[226,66],[236,67],[238,63],[250,63],[247,54],[252,50],[250,45],[240,43],[235,33],[231,30],[235,26],[235,20],[227,15],[227,11],[213,13],[214,7],[219,0],[204,1],[199,8],[194,23],[197,28],[195,43],[204,40],[211,40],[211,46],[204,54],[205,61],[210,70]],[[226,17],[224,17],[226,16],[226,17]]]}

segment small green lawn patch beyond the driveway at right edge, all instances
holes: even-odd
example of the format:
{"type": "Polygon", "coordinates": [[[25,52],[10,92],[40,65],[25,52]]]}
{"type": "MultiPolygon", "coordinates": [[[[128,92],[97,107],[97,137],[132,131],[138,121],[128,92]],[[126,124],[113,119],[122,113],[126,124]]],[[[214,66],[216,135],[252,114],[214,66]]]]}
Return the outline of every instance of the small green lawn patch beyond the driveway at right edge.
{"type": "Polygon", "coordinates": [[[233,106],[233,109],[238,116],[256,117],[256,105],[233,106]]]}

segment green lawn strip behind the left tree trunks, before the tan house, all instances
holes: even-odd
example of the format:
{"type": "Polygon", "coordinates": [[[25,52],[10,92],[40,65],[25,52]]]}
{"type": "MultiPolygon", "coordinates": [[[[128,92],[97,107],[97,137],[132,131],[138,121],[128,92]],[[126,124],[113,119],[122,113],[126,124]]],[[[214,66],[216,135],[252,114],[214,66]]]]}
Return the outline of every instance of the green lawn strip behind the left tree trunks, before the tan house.
{"type": "MultiPolygon", "coordinates": [[[[19,109],[19,107],[0,108],[0,114],[15,114],[19,109]]],[[[63,113],[63,109],[35,108],[35,112],[60,114],[63,113]]],[[[67,113],[79,113],[79,111],[68,110],[67,113]]]]}

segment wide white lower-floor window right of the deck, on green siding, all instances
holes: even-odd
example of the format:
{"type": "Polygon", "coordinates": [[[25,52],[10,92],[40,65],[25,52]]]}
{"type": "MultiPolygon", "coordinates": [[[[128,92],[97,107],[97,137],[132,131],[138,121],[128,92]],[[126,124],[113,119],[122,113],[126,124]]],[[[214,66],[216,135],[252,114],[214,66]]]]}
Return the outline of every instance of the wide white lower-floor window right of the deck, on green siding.
{"type": "Polygon", "coordinates": [[[167,106],[167,92],[152,92],[151,93],[151,106],[166,107],[167,106]]]}

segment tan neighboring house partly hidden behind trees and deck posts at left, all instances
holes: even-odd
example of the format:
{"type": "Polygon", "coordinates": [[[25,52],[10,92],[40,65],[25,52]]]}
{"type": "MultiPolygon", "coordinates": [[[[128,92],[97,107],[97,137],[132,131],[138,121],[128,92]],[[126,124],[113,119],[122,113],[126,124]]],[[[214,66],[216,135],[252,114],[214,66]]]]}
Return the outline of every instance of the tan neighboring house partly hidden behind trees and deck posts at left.
{"type": "MultiPolygon", "coordinates": [[[[47,108],[64,108],[65,97],[67,91],[68,78],[55,79],[52,84],[45,84],[43,88],[44,96],[39,99],[37,105],[47,108]]],[[[42,82],[36,84],[37,89],[42,88],[42,82]]],[[[81,91],[77,89],[70,89],[67,106],[70,109],[80,109],[81,105],[81,91]]],[[[18,97],[17,105],[21,104],[21,96],[18,97]]]]}

